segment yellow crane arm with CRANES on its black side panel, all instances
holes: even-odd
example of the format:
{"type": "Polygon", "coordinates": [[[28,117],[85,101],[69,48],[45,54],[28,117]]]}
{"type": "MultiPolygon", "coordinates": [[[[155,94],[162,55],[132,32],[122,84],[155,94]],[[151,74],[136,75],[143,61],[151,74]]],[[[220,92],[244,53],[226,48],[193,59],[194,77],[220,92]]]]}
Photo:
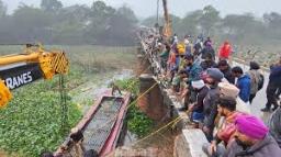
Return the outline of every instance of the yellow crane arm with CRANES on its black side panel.
{"type": "Polygon", "coordinates": [[[0,108],[12,99],[11,90],[67,71],[65,53],[45,51],[42,45],[29,44],[24,54],[0,56],[0,108]]]}

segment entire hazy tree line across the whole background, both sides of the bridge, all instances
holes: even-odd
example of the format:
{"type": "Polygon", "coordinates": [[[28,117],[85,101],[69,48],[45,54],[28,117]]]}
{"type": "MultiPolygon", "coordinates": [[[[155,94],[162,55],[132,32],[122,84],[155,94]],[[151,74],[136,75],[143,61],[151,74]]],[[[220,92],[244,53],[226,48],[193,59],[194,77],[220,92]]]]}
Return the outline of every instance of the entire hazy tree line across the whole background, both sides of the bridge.
{"type": "MultiPolygon", "coordinates": [[[[270,44],[281,41],[281,14],[251,13],[221,16],[212,5],[188,12],[186,16],[170,15],[173,32],[178,35],[203,34],[245,45],[270,44]]],[[[102,44],[133,45],[135,30],[143,24],[154,26],[156,15],[139,21],[134,11],[123,5],[112,8],[102,0],[91,7],[64,7],[59,0],[42,0],[40,8],[21,3],[12,13],[0,0],[0,44],[102,44]]],[[[164,18],[160,18],[160,25],[164,18]]]]}

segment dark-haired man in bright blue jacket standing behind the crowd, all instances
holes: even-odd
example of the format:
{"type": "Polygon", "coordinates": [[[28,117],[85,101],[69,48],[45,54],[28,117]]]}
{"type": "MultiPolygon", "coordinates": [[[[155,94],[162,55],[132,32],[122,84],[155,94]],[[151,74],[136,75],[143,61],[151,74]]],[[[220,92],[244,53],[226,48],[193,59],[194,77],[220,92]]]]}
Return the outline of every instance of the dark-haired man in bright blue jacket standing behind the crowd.
{"type": "Polygon", "coordinates": [[[238,78],[236,86],[240,90],[239,98],[244,102],[248,102],[250,98],[250,77],[244,75],[243,69],[238,66],[232,69],[232,74],[234,77],[238,78]]]}

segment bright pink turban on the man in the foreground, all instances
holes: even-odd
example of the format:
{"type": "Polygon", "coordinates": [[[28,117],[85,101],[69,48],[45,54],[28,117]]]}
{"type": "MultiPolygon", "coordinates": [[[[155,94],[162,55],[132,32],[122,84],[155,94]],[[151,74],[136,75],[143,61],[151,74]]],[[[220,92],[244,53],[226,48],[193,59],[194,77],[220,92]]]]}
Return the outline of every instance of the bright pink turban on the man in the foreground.
{"type": "Polygon", "coordinates": [[[265,123],[254,115],[239,115],[235,124],[240,133],[255,139],[262,139],[269,132],[265,123]]]}

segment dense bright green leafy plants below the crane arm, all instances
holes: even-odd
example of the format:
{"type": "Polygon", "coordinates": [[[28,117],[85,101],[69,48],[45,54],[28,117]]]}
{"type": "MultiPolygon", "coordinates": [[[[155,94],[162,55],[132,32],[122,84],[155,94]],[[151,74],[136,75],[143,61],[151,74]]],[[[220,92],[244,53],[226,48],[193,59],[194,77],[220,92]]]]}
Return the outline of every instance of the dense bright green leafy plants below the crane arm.
{"type": "MultiPolygon", "coordinates": [[[[44,150],[55,150],[68,132],[60,132],[59,93],[45,90],[49,82],[40,81],[13,92],[7,109],[0,110],[0,149],[36,157],[44,150]]],[[[69,124],[74,126],[81,112],[68,100],[69,124]]]]}

